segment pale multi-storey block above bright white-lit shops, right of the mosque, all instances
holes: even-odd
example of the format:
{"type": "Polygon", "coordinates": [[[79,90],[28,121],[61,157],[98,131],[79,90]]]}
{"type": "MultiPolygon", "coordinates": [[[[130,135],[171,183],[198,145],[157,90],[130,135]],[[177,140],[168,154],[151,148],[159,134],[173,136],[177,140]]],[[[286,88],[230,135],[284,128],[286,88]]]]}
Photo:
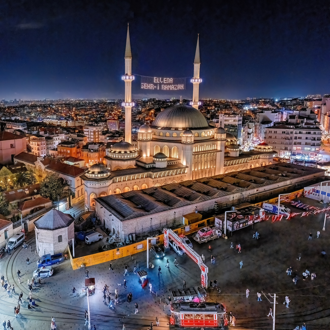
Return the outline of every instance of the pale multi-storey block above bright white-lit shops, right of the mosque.
{"type": "Polygon", "coordinates": [[[318,160],[321,129],[315,125],[275,125],[266,128],[266,142],[280,157],[318,160]]]}

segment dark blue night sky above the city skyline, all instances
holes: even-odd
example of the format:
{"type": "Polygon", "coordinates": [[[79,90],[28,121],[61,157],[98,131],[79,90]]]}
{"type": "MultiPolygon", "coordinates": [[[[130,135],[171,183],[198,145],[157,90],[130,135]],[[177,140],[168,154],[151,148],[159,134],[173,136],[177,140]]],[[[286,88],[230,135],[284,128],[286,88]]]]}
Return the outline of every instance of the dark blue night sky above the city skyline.
{"type": "Polygon", "coordinates": [[[192,77],[200,34],[200,98],[330,92],[328,1],[2,0],[0,99],[123,98],[127,22],[138,75],[192,77]]]}

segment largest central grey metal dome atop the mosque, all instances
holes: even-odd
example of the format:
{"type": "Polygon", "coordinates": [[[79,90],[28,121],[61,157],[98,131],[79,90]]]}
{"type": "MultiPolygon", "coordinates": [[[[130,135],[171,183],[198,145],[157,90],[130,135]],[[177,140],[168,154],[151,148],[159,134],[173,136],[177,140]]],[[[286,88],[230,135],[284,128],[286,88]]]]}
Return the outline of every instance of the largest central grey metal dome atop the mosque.
{"type": "Polygon", "coordinates": [[[210,128],[207,119],[197,109],[188,105],[179,104],[160,112],[152,122],[154,129],[208,129],[210,128]]]}

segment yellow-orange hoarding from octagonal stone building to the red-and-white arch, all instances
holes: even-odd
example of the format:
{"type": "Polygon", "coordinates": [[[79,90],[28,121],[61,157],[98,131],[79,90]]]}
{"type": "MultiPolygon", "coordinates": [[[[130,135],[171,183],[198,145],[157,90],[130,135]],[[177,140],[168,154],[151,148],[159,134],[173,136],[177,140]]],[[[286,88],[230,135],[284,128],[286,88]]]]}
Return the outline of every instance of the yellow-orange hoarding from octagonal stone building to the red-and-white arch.
{"type": "MultiPolygon", "coordinates": [[[[156,237],[157,244],[164,244],[164,234],[161,234],[156,237]]],[[[150,240],[149,240],[150,244],[150,240]]],[[[95,254],[85,255],[83,257],[73,258],[71,251],[69,249],[70,261],[72,269],[79,269],[81,264],[84,264],[86,267],[101,264],[103,262],[109,262],[114,259],[119,259],[122,257],[131,256],[132,254],[146,251],[147,250],[147,240],[133,243],[130,245],[125,245],[119,248],[115,248],[108,251],[103,251],[95,254]]]]}

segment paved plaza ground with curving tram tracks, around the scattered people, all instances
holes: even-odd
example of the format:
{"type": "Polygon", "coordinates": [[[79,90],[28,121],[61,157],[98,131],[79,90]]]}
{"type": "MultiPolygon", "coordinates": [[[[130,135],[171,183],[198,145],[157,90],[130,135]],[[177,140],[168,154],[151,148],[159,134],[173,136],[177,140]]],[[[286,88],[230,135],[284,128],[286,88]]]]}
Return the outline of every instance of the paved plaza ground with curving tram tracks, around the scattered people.
{"type": "MultiPolygon", "coordinates": [[[[314,201],[305,199],[313,204],[314,201]]],[[[314,203],[315,204],[315,203],[314,203]]],[[[321,206],[317,204],[317,206],[321,206]]],[[[296,211],[292,208],[292,211],[296,211]]],[[[299,212],[299,211],[297,211],[299,212]]],[[[300,211],[301,212],[301,211],[300,211]]],[[[251,329],[259,328],[260,322],[264,328],[271,328],[271,319],[268,314],[269,307],[273,307],[267,298],[262,295],[261,302],[257,301],[257,292],[265,294],[276,292],[279,296],[279,304],[276,306],[277,328],[293,329],[298,322],[305,321],[308,329],[320,329],[317,324],[328,324],[325,312],[329,308],[328,279],[330,267],[328,259],[321,257],[321,250],[327,251],[329,247],[328,228],[322,231],[324,215],[313,218],[295,217],[292,220],[282,220],[272,223],[269,221],[257,223],[254,228],[245,228],[237,231],[227,240],[218,239],[211,241],[212,251],[208,251],[208,244],[193,245],[200,254],[204,253],[206,264],[209,266],[209,281],[218,280],[219,293],[216,289],[208,289],[210,300],[223,302],[228,311],[236,316],[238,326],[251,329]],[[252,239],[253,231],[258,230],[260,239],[252,239]],[[320,238],[316,238],[316,231],[320,230],[320,238]],[[313,233],[312,241],[308,241],[309,233],[313,233]],[[240,243],[242,253],[236,249],[230,249],[230,243],[234,246],[240,243]],[[215,255],[215,265],[211,264],[210,255],[215,255]],[[301,260],[297,260],[301,253],[301,260]],[[239,262],[243,261],[240,269],[239,262]],[[296,285],[292,277],[287,276],[285,270],[292,266],[297,272],[299,280],[296,285]],[[305,269],[316,273],[316,278],[311,281],[302,281],[302,273],[305,269]],[[246,298],[245,291],[249,288],[250,295],[246,298]],[[289,308],[282,304],[284,297],[289,295],[291,302],[289,308]],[[311,313],[313,311],[313,313],[311,313]],[[288,321],[287,316],[292,316],[288,321]],[[253,326],[253,322],[259,321],[259,325],[253,326]]],[[[329,222],[330,225],[330,222],[329,222]]],[[[326,225],[327,226],[327,225],[326,225]]],[[[23,298],[28,294],[27,280],[31,279],[33,271],[37,268],[37,254],[34,252],[34,233],[28,236],[29,245],[32,243],[33,252],[20,248],[10,256],[1,259],[0,271],[5,274],[7,280],[15,282],[16,293],[23,291],[23,298]],[[26,257],[30,259],[27,265],[26,257]],[[21,284],[17,282],[16,270],[21,271],[21,284]]],[[[329,252],[330,253],[330,252],[329,252]]],[[[96,281],[95,294],[90,296],[90,309],[92,324],[95,323],[98,330],[121,329],[125,322],[126,329],[147,329],[155,316],[160,317],[160,329],[168,328],[169,307],[167,306],[169,289],[182,287],[183,280],[188,286],[197,287],[200,283],[200,271],[197,265],[187,256],[178,257],[173,251],[161,260],[151,259],[153,269],[146,269],[146,252],[135,254],[112,262],[113,271],[109,270],[109,264],[99,264],[88,267],[89,277],[96,281]],[[179,265],[174,265],[174,258],[178,258],[179,265]],[[170,261],[170,271],[165,268],[167,258],[170,261]],[[128,265],[128,276],[123,276],[124,267],[128,265]],[[153,285],[154,293],[149,293],[147,287],[141,287],[139,277],[133,274],[134,265],[148,272],[148,278],[153,285]],[[162,268],[162,274],[158,276],[158,266],[162,268]],[[124,278],[127,288],[123,287],[124,278]],[[109,285],[112,298],[115,289],[119,290],[119,304],[115,310],[110,310],[103,303],[102,288],[109,285]],[[121,285],[118,285],[121,284],[121,285]],[[131,303],[126,302],[127,293],[132,292],[131,303]],[[134,314],[134,303],[139,305],[139,313],[134,314]],[[164,306],[165,305],[165,306],[164,306]]],[[[140,269],[140,268],[139,268],[140,269]]],[[[48,329],[51,316],[57,320],[57,328],[81,330],[87,329],[84,325],[83,312],[87,309],[87,299],[82,293],[84,283],[84,271],[71,268],[69,260],[60,265],[54,265],[54,275],[42,280],[42,285],[33,290],[38,307],[28,310],[26,304],[22,304],[21,318],[15,319],[13,307],[17,304],[18,294],[9,296],[3,290],[0,291],[0,303],[2,306],[0,317],[12,322],[14,330],[48,329]],[[72,287],[77,289],[77,297],[72,296],[72,287]]],[[[154,321],[155,323],[155,321],[154,321]]],[[[261,327],[262,328],[262,327],[261,327]]]]}

